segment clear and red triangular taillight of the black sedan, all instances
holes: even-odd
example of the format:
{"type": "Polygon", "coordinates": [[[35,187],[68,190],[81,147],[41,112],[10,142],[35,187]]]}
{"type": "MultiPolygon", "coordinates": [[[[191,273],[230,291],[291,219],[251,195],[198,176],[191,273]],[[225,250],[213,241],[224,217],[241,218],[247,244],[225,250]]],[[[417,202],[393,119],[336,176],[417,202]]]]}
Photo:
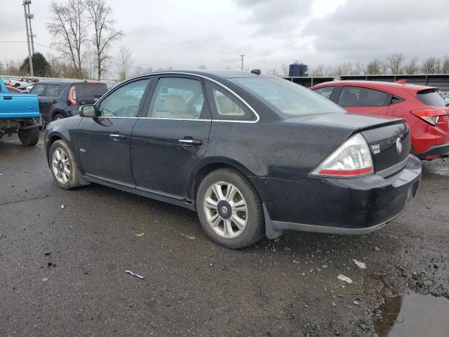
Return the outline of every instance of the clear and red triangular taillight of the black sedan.
{"type": "Polygon", "coordinates": [[[352,178],[373,173],[370,147],[360,133],[349,138],[311,172],[312,176],[352,178]]]}

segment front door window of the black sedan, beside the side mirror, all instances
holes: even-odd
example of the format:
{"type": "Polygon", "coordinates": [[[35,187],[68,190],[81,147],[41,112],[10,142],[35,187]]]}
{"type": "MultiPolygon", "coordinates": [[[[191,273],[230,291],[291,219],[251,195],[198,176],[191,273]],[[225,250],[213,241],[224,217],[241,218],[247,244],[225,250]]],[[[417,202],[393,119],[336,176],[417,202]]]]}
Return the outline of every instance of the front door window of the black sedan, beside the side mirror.
{"type": "Polygon", "coordinates": [[[101,101],[98,115],[103,117],[136,117],[149,79],[125,84],[101,101]]]}

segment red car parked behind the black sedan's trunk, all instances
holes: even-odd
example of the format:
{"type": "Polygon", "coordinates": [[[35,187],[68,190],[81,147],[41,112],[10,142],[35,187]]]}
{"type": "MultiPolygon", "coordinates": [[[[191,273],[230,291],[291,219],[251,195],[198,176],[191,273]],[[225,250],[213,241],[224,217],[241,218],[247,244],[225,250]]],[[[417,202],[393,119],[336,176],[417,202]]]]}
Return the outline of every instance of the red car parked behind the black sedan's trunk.
{"type": "Polygon", "coordinates": [[[311,90],[351,113],[406,119],[412,152],[422,160],[449,154],[449,103],[437,88],[406,81],[332,81],[311,90]]]}

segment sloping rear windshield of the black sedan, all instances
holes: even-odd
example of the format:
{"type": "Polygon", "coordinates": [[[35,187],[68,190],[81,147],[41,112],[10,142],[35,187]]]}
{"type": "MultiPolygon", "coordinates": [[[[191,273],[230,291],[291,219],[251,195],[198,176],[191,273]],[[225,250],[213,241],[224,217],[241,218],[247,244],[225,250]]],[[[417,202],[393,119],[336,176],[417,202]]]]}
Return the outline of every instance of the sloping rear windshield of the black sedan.
{"type": "Polygon", "coordinates": [[[318,93],[293,84],[286,79],[274,77],[245,77],[230,79],[235,84],[255,93],[276,112],[286,118],[305,114],[344,113],[342,107],[323,98],[318,93]]]}

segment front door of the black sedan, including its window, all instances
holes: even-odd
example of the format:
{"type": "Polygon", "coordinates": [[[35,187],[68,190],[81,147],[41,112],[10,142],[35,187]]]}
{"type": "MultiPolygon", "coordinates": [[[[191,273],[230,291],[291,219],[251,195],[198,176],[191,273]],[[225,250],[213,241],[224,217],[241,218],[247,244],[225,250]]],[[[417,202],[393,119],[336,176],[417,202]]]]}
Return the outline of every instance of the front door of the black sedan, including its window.
{"type": "Polygon", "coordinates": [[[149,81],[139,78],[117,86],[95,105],[96,117],[82,117],[78,146],[86,175],[135,186],[130,164],[131,131],[149,81]]]}

